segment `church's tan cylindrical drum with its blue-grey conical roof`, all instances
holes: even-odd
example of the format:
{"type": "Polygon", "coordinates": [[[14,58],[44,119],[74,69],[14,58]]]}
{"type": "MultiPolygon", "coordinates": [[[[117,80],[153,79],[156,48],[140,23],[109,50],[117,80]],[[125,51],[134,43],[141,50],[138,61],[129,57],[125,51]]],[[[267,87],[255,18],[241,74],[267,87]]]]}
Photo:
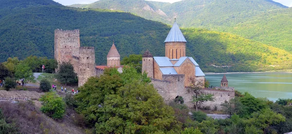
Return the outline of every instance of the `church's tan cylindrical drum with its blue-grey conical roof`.
{"type": "Polygon", "coordinates": [[[185,57],[185,43],[183,33],[175,21],[165,41],[165,57],[169,59],[185,57]]]}

